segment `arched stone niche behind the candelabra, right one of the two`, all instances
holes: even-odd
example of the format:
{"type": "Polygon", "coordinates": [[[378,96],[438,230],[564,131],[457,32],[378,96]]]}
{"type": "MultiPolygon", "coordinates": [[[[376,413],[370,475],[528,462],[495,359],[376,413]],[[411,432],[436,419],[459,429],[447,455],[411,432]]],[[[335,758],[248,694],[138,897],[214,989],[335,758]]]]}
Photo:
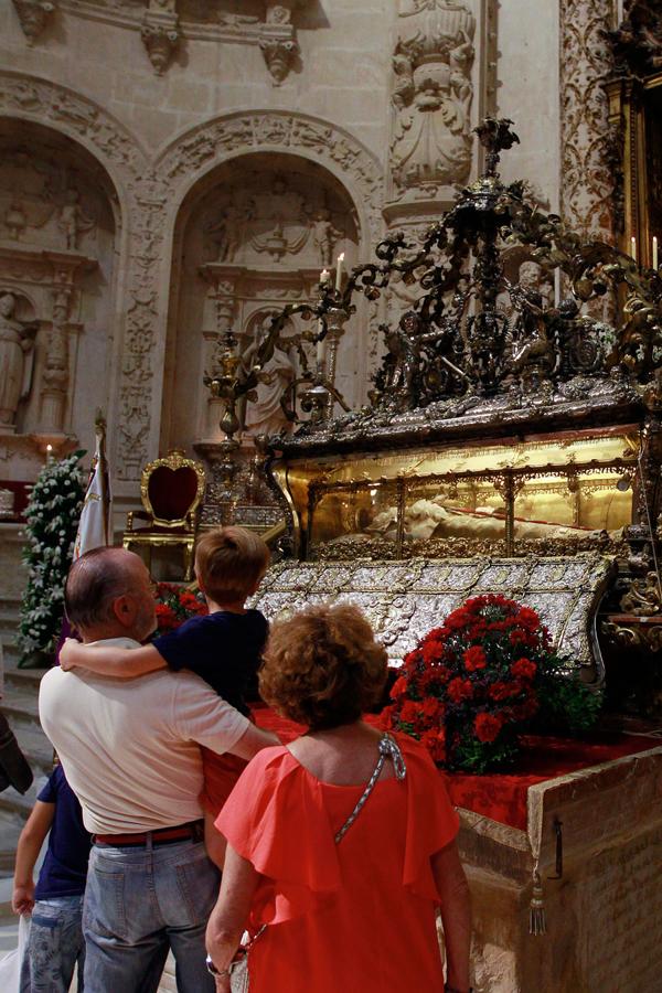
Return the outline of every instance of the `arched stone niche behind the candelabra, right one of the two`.
{"type": "MultiPolygon", "coordinates": [[[[249,352],[270,318],[286,303],[313,300],[320,273],[335,278],[357,263],[356,211],[341,183],[318,163],[282,153],[248,154],[202,180],[182,206],[175,229],[172,305],[168,332],[161,447],[191,448],[221,440],[221,407],[203,386],[214,366],[220,335],[228,329],[249,352]]],[[[365,306],[350,319],[340,342],[337,386],[349,403],[365,381],[365,306]]],[[[278,397],[299,373],[297,339],[310,321],[298,316],[245,410],[243,444],[286,425],[278,397]]],[[[306,344],[310,350],[311,345],[306,344]]],[[[310,359],[314,356],[309,351],[310,359]]]]}

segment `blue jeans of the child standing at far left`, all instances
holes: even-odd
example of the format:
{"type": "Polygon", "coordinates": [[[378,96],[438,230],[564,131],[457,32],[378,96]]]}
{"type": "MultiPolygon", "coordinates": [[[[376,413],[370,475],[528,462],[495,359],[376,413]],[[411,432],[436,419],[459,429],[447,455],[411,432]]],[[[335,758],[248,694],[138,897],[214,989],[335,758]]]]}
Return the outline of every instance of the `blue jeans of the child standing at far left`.
{"type": "Polygon", "coordinates": [[[21,967],[21,993],[68,993],[76,963],[81,993],[85,960],[82,915],[82,896],[35,903],[21,967]]]}

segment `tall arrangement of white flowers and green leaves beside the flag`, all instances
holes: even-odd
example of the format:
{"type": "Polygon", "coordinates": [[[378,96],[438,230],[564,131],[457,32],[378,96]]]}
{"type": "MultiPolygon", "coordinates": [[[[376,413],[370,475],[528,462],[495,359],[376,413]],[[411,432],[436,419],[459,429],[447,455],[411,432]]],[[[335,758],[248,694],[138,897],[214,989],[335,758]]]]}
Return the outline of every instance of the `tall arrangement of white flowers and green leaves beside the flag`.
{"type": "Polygon", "coordinates": [[[83,455],[76,451],[65,459],[49,459],[30,494],[23,552],[28,586],[19,628],[22,661],[35,652],[52,652],[62,628],[64,583],[85,495],[79,466],[83,455]]]}

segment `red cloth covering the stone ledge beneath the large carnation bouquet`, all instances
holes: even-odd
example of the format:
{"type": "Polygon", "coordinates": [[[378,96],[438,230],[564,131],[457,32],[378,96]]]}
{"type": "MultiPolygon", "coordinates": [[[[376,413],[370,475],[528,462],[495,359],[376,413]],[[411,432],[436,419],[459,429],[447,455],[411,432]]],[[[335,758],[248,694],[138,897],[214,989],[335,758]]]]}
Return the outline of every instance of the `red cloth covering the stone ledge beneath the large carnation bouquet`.
{"type": "MultiPolygon", "coordinates": [[[[287,744],[306,728],[279,717],[269,707],[254,707],[256,723],[271,730],[287,744]]],[[[380,724],[380,717],[366,717],[370,724],[380,724]]],[[[523,750],[517,770],[492,776],[465,776],[459,772],[446,776],[448,792],[456,807],[526,830],[526,792],[528,787],[546,779],[555,779],[567,772],[587,769],[637,751],[647,751],[658,743],[638,735],[594,735],[586,740],[528,736],[523,739],[523,750]]]]}

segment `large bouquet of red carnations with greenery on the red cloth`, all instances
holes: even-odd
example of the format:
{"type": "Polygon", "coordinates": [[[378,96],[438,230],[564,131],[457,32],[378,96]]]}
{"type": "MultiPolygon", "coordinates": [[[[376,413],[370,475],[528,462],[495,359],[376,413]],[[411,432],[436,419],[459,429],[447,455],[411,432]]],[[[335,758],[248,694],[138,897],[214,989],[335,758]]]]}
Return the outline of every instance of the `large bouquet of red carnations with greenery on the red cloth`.
{"type": "Polygon", "coordinates": [[[485,772],[512,762],[525,730],[578,733],[600,695],[552,649],[538,615],[505,597],[474,597],[404,660],[386,726],[404,730],[448,769],[485,772]]]}

